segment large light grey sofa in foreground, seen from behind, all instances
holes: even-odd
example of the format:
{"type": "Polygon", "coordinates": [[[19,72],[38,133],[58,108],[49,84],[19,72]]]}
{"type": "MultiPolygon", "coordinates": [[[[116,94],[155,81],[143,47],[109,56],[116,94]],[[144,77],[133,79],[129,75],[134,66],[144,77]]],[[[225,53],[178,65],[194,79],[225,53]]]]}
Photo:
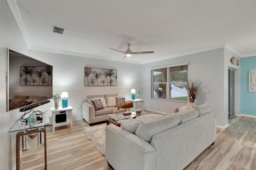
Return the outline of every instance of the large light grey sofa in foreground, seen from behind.
{"type": "Polygon", "coordinates": [[[214,113],[195,109],[108,125],[106,160],[116,170],[182,170],[216,140],[214,113]]]}

